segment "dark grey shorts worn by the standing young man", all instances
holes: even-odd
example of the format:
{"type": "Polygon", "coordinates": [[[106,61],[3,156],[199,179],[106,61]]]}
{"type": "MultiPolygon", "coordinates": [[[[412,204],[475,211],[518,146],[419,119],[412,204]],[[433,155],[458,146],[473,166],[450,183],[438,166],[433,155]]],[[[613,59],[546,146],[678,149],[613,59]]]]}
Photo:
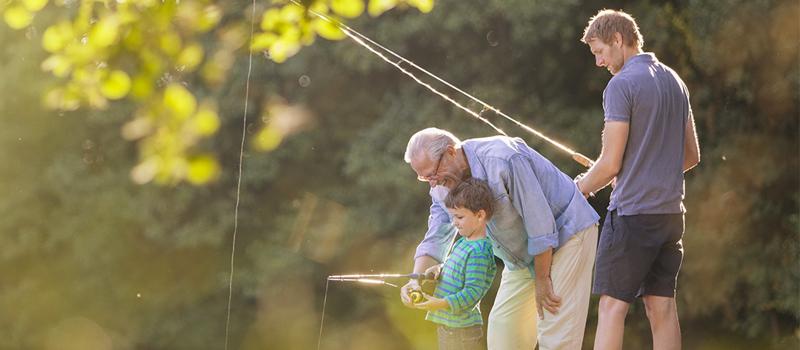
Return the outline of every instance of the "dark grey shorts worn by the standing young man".
{"type": "Polygon", "coordinates": [[[683,214],[606,215],[597,247],[592,292],[632,303],[675,297],[683,260],[683,214]]]}

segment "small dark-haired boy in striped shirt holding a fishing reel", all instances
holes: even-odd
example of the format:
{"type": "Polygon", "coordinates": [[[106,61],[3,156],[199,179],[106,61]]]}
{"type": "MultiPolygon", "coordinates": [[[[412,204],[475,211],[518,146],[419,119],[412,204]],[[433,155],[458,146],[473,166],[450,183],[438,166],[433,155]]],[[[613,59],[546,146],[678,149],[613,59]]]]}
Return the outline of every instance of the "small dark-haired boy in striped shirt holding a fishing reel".
{"type": "Polygon", "coordinates": [[[485,349],[483,318],[478,304],[492,285],[496,266],[486,223],[494,199],[489,186],[467,179],[444,200],[459,238],[445,262],[429,269],[439,278],[433,296],[415,307],[428,310],[426,320],[438,325],[439,350],[485,349]]]}

